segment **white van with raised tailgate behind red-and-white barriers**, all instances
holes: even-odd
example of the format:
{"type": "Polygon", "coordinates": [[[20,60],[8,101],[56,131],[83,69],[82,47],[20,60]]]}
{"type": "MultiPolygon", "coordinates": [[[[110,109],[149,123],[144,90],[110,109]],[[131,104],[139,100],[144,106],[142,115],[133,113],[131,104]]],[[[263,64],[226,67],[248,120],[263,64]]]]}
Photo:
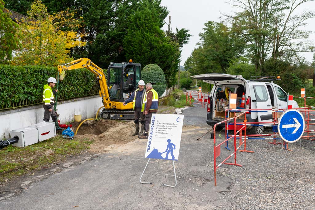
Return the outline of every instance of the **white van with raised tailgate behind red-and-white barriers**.
{"type": "MultiPolygon", "coordinates": [[[[250,80],[245,80],[241,75],[214,73],[194,75],[192,78],[214,85],[208,100],[207,112],[207,124],[211,126],[225,119],[225,110],[228,109],[227,98],[229,91],[237,93],[237,101],[240,104],[244,93],[245,109],[287,108],[288,94],[280,86],[273,83],[273,81],[280,80],[275,76],[252,76],[250,80]]],[[[292,108],[298,107],[296,101],[293,101],[292,108]]],[[[234,117],[234,112],[230,113],[230,117],[234,117]]],[[[247,122],[272,122],[272,117],[272,112],[252,111],[246,114],[247,122]]],[[[238,121],[242,122],[243,120],[239,119],[238,121]]],[[[217,128],[222,129],[224,126],[222,124],[217,128]]],[[[252,134],[262,134],[264,131],[263,126],[248,126],[247,129],[250,129],[252,134]]]]}

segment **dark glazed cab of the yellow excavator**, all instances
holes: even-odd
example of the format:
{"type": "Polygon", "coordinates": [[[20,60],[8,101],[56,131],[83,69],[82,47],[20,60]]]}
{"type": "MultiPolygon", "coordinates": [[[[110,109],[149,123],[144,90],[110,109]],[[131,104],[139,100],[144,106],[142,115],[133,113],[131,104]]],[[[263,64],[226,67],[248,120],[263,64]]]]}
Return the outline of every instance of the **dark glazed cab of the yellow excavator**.
{"type": "Polygon", "coordinates": [[[107,86],[111,101],[123,102],[128,99],[132,92],[138,87],[141,78],[141,64],[132,63],[113,63],[108,66],[107,86]]]}

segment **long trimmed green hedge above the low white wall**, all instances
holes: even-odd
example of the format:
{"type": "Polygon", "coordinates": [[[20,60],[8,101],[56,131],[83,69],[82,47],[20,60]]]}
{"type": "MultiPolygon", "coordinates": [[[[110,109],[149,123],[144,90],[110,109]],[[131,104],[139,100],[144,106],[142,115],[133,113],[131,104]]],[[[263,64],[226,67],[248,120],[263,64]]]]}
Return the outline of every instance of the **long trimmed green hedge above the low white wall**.
{"type": "MultiPolygon", "coordinates": [[[[59,82],[58,100],[99,93],[96,76],[87,69],[66,72],[59,82]]],[[[57,67],[0,65],[0,110],[43,103],[43,86],[57,67]]]]}

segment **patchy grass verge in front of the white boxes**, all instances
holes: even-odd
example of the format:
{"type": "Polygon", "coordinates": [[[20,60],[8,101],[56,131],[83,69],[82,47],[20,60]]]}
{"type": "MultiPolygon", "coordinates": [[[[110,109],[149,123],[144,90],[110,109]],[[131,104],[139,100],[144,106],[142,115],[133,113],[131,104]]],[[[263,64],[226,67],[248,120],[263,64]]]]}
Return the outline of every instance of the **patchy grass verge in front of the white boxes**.
{"type": "Polygon", "coordinates": [[[9,145],[0,150],[0,183],[55,165],[89,149],[90,144],[93,144],[91,139],[69,140],[59,135],[27,147],[9,145]]]}

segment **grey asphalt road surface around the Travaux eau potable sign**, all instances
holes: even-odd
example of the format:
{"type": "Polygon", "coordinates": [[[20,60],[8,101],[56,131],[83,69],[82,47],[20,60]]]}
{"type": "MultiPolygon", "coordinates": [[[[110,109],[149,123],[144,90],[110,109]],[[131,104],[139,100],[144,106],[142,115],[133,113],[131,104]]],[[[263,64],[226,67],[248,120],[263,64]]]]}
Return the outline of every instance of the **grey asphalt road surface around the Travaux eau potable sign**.
{"type": "MultiPolygon", "coordinates": [[[[221,193],[232,182],[227,176],[214,187],[213,140],[209,134],[206,109],[199,105],[182,113],[184,126],[178,168],[183,179],[156,175],[157,160],[151,159],[142,184],[139,179],[146,165],[146,140],[135,139],[108,153],[76,157],[48,172],[26,177],[16,192],[0,197],[0,209],[216,209],[224,206],[221,193]],[[37,177],[37,179],[35,178],[37,177]],[[40,179],[40,177],[45,177],[40,179]],[[23,185],[23,186],[22,186],[23,185]],[[218,199],[220,198],[220,199],[218,199]]],[[[224,135],[222,135],[224,136],[224,135]]],[[[122,136],[123,138],[123,136],[122,136]]],[[[162,160],[161,172],[172,174],[172,162],[162,160]]],[[[227,206],[226,206],[227,207],[227,206]]]]}

